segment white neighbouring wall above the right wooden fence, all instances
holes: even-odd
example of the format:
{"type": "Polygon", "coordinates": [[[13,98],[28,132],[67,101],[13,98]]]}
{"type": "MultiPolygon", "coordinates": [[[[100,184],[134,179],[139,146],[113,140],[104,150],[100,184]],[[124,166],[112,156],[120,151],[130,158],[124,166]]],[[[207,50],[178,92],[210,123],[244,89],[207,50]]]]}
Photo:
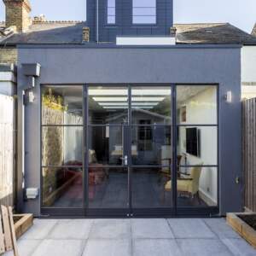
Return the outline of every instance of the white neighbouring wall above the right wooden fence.
{"type": "Polygon", "coordinates": [[[256,97],[256,46],[241,48],[241,97],[256,97]]]}

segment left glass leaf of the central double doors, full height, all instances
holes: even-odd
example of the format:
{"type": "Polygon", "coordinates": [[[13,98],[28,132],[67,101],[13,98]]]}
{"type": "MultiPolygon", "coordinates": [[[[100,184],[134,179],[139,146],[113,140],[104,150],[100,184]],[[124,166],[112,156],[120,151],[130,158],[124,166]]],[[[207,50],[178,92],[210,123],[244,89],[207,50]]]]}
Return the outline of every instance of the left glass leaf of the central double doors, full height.
{"type": "Polygon", "coordinates": [[[126,214],[128,87],[89,86],[87,100],[87,205],[91,211],[123,209],[126,214]]]}

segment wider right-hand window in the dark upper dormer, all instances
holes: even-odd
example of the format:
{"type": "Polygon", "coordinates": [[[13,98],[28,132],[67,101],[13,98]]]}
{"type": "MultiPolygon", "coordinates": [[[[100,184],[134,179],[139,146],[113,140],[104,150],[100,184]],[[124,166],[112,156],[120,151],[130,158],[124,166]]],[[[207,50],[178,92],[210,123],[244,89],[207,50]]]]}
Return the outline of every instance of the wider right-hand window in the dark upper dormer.
{"type": "Polygon", "coordinates": [[[156,0],[132,0],[132,23],[155,24],[156,0]]]}

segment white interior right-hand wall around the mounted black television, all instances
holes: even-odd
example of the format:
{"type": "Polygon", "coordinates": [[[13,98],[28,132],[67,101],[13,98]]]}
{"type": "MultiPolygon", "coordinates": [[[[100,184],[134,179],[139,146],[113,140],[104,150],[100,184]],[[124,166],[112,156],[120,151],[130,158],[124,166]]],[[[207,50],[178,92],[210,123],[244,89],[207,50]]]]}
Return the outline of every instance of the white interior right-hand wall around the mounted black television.
{"type": "MultiPolygon", "coordinates": [[[[190,97],[188,101],[183,102],[186,106],[187,124],[212,124],[212,120],[217,120],[215,87],[209,87],[197,95],[190,97]],[[204,102],[204,104],[202,104],[204,102]]],[[[181,124],[183,124],[181,122],[181,124]]],[[[187,155],[188,165],[217,165],[217,128],[203,127],[201,131],[201,155],[196,157],[186,153],[186,127],[180,128],[180,139],[178,150],[180,154],[187,155]]],[[[184,158],[183,158],[184,161],[184,158]]],[[[217,203],[218,198],[218,173],[216,168],[204,167],[200,178],[200,192],[205,195],[207,202],[217,203]]]]}

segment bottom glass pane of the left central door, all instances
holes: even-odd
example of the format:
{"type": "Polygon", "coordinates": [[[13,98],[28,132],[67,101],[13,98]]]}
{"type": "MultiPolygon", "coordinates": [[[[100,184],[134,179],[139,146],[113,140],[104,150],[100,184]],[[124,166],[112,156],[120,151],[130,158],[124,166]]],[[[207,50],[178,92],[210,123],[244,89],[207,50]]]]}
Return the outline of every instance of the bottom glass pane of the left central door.
{"type": "Polygon", "coordinates": [[[128,172],[126,168],[89,167],[89,207],[128,207],[128,172]]]}

